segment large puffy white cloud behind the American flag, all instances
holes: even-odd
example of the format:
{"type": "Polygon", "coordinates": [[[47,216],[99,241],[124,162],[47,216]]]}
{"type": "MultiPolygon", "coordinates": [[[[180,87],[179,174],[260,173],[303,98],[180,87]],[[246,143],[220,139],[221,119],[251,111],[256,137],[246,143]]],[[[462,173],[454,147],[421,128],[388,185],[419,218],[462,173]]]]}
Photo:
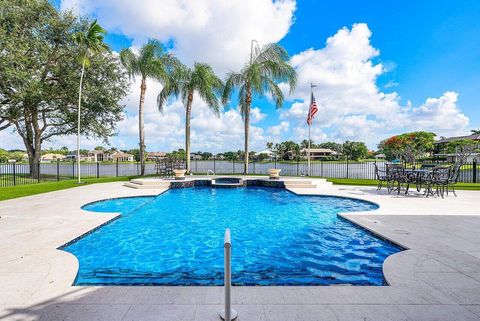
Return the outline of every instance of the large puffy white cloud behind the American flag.
{"type": "MultiPolygon", "coordinates": [[[[363,140],[373,147],[381,138],[407,130],[441,135],[465,132],[469,121],[457,106],[457,93],[445,92],[412,107],[401,105],[396,92],[379,88],[377,79],[387,68],[374,62],[380,51],[371,45],[370,36],[366,24],[355,24],[328,38],[324,48],[292,57],[298,86],[289,97],[294,102],[281,112],[280,119],[292,124],[294,137],[307,137],[311,83],[317,86],[314,94],[319,108],[312,126],[314,140],[363,140]]],[[[282,84],[285,93],[286,89],[282,84]]]]}

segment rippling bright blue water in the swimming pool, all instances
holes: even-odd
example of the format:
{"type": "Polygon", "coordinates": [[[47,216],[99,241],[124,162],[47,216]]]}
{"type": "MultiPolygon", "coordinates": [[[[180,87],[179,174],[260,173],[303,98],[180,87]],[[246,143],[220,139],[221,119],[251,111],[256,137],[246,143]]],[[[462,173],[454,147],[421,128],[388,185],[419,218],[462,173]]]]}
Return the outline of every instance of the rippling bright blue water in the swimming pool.
{"type": "Polygon", "coordinates": [[[382,285],[383,261],[401,249],[337,216],[376,208],[284,189],[174,189],[86,205],[122,214],[63,250],[80,262],[77,285],[222,285],[230,228],[233,284],[382,285]]]}

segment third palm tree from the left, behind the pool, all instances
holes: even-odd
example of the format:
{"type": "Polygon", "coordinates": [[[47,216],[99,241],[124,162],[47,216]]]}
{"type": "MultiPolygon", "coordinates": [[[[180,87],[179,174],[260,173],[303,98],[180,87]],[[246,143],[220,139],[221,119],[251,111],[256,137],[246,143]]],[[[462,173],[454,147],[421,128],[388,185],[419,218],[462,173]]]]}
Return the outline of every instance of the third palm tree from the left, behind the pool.
{"type": "Polygon", "coordinates": [[[163,107],[170,96],[180,97],[185,106],[185,158],[187,172],[190,171],[190,117],[194,94],[198,96],[218,116],[220,101],[217,94],[221,94],[223,83],[215,75],[212,67],[196,62],[193,68],[178,66],[170,74],[169,81],[157,97],[158,109],[163,112],[163,107]]]}

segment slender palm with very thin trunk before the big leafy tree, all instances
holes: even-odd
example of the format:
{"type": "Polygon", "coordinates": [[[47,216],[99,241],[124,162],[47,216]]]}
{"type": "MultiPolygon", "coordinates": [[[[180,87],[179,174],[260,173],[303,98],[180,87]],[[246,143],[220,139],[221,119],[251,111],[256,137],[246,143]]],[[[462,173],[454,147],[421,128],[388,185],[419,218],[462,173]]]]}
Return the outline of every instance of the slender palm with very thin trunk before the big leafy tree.
{"type": "Polygon", "coordinates": [[[90,66],[90,56],[100,54],[108,50],[107,44],[103,42],[103,37],[107,32],[98,23],[93,21],[87,30],[79,31],[74,34],[73,40],[80,48],[80,58],[82,60],[82,73],[80,74],[80,85],[78,89],[78,119],[77,119],[77,176],[78,183],[81,182],[80,174],[80,112],[82,106],[82,86],[85,68],[90,66]]]}

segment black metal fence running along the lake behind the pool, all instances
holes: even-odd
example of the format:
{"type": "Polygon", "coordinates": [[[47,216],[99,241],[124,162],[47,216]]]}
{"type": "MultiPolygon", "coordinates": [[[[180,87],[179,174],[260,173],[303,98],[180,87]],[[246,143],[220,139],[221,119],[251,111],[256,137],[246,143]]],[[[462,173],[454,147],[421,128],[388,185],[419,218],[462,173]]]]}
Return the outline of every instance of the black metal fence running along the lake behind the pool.
{"type": "MultiPolygon", "coordinates": [[[[375,164],[385,168],[386,162],[356,162],[356,161],[312,161],[310,175],[325,178],[375,179],[375,164]]],[[[428,162],[428,164],[433,164],[428,162]]],[[[450,165],[448,163],[437,163],[450,165]]],[[[242,174],[243,162],[231,160],[192,160],[191,171],[195,174],[242,174]]],[[[412,165],[407,165],[412,166],[412,165]]],[[[416,166],[421,166],[417,163],[416,166]]],[[[284,176],[307,176],[308,164],[305,161],[252,161],[249,164],[249,174],[264,175],[269,168],[281,169],[284,176]]],[[[155,163],[145,164],[145,175],[156,175],[155,163]]],[[[139,176],[140,163],[82,163],[83,178],[139,176]]],[[[60,181],[75,179],[77,164],[75,162],[29,164],[0,164],[0,187],[34,184],[45,181],[60,181]]],[[[476,161],[464,164],[460,171],[459,182],[480,183],[480,171],[476,161]]]]}

